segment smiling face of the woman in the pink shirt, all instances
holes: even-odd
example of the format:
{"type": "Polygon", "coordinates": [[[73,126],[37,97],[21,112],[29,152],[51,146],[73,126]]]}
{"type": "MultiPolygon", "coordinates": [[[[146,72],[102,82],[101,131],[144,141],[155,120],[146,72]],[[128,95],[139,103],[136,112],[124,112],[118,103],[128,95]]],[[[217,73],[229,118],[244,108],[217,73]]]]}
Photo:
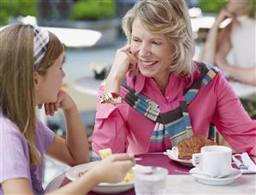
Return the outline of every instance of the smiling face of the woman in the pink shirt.
{"type": "Polygon", "coordinates": [[[169,80],[174,47],[162,34],[149,32],[135,19],[132,26],[131,53],[140,73],[157,82],[169,80]]]}

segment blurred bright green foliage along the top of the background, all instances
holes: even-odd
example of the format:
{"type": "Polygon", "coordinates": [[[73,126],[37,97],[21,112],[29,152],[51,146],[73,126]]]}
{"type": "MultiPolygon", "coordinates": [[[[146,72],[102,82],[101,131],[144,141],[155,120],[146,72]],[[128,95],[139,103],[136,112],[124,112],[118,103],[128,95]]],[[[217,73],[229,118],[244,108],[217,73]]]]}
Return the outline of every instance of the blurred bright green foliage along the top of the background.
{"type": "MultiPolygon", "coordinates": [[[[0,0],[0,25],[7,24],[10,15],[14,17],[39,16],[37,7],[39,1],[44,0],[0,0]]],[[[204,13],[217,13],[226,3],[227,0],[199,0],[198,6],[204,13]]],[[[74,0],[69,19],[73,21],[98,20],[113,18],[115,15],[115,0],[74,0]]]]}

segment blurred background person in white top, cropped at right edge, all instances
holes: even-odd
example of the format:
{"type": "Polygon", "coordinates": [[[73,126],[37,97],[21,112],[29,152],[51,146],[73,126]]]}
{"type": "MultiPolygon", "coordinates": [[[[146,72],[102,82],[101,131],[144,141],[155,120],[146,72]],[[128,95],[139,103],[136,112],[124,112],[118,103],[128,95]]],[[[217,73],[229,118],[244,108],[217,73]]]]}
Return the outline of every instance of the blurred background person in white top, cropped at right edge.
{"type": "Polygon", "coordinates": [[[255,1],[229,0],[210,29],[201,56],[203,62],[216,62],[231,79],[254,86],[256,86],[255,10],[255,1]],[[219,32],[219,25],[226,18],[231,18],[232,21],[219,32]],[[227,61],[231,49],[234,53],[234,64],[227,61]]]}

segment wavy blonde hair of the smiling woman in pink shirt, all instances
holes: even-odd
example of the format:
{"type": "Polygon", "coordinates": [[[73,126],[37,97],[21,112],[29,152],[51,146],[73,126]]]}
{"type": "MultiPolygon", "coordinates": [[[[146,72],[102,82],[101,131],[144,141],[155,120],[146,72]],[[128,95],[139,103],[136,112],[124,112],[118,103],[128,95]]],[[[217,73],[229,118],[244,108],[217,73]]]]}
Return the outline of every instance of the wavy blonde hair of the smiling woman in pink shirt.
{"type": "Polygon", "coordinates": [[[129,43],[134,19],[138,19],[146,30],[163,34],[174,45],[170,72],[186,77],[193,73],[193,33],[188,7],[183,0],[142,0],[136,3],[122,19],[122,29],[129,43]]]}

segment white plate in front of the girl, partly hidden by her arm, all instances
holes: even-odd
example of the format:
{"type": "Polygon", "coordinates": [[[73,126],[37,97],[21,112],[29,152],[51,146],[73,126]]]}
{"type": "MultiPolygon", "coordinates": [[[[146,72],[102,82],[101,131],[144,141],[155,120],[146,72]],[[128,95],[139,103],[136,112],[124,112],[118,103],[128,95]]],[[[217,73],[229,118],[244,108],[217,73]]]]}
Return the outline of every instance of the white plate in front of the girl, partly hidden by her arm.
{"type": "MultiPolygon", "coordinates": [[[[78,174],[81,171],[86,171],[95,166],[95,164],[98,162],[89,162],[86,164],[80,164],[77,166],[74,166],[73,168],[68,169],[66,172],[66,177],[69,180],[77,180],[79,178],[78,174]]],[[[110,184],[110,183],[100,183],[98,186],[94,186],[92,188],[93,192],[98,192],[98,193],[118,193],[118,192],[125,192],[128,191],[129,189],[134,187],[134,181],[129,181],[129,182],[118,182],[115,184],[110,184]]]]}

